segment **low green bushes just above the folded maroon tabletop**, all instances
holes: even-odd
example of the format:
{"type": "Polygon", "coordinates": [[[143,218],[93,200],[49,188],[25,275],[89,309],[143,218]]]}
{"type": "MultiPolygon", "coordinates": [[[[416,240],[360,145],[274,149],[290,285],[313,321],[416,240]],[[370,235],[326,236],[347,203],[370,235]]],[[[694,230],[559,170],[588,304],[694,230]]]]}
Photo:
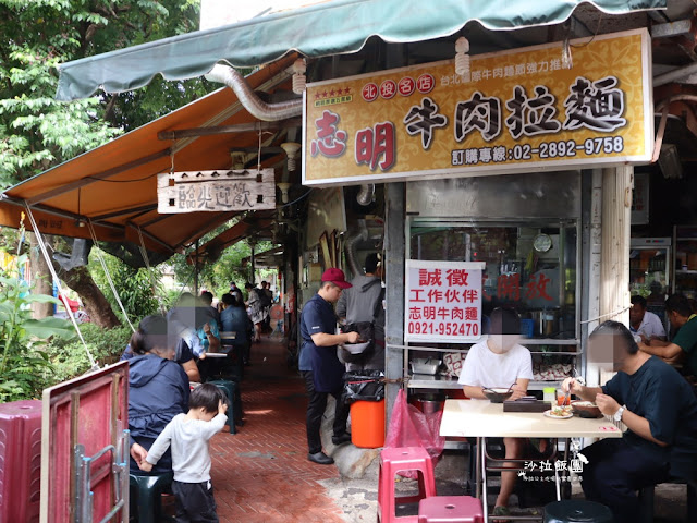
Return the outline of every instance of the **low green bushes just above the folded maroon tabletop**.
{"type": "MultiPolygon", "coordinates": [[[[100,365],[118,361],[131,339],[131,328],[127,326],[101,329],[93,324],[82,324],[80,331],[87,349],[100,365]]],[[[53,339],[46,348],[46,354],[50,355],[52,368],[47,376],[46,387],[80,376],[90,368],[87,352],[80,339],[53,339]]]]}

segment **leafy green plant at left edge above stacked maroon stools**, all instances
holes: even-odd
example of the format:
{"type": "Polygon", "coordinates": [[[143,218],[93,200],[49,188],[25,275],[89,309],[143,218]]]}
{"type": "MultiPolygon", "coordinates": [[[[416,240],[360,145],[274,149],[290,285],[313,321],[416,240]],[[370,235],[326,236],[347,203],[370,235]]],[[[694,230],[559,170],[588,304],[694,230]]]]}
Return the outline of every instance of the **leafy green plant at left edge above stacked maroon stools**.
{"type": "MultiPolygon", "coordinates": [[[[26,255],[17,257],[19,267],[25,263],[26,255]]],[[[59,303],[52,296],[30,294],[26,281],[0,271],[0,403],[38,397],[52,374],[46,341],[75,337],[66,320],[33,319],[33,302],[59,303]]]]}

